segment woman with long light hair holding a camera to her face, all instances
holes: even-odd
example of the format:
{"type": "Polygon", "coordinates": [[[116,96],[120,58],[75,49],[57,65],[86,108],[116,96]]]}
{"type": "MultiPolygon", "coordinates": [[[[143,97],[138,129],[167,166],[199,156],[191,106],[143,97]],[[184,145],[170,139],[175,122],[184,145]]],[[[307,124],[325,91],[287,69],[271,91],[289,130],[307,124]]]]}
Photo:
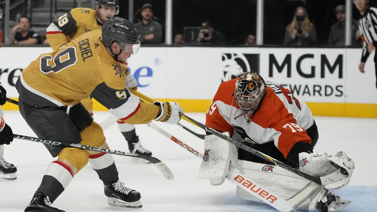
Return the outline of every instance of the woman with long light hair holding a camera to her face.
{"type": "Polygon", "coordinates": [[[287,26],[284,46],[310,46],[317,44],[317,33],[310,22],[307,10],[299,6],[294,12],[290,25],[287,26]]]}

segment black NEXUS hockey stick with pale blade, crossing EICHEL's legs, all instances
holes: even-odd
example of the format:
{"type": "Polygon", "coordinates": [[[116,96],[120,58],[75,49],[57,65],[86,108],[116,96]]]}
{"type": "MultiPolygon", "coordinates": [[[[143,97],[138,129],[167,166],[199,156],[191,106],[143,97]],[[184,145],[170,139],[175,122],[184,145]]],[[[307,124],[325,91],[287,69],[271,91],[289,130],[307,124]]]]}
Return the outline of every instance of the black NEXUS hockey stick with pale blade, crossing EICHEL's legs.
{"type": "Polygon", "coordinates": [[[104,153],[109,153],[109,154],[114,154],[114,155],[123,155],[123,156],[128,156],[128,157],[143,158],[153,163],[161,171],[162,175],[164,175],[166,179],[168,180],[174,179],[173,174],[170,171],[169,167],[167,167],[164,163],[162,163],[161,160],[158,160],[155,157],[150,157],[146,155],[138,155],[138,154],[133,154],[129,152],[122,152],[119,150],[104,149],[101,147],[86,146],[82,144],[73,144],[73,143],[65,143],[65,142],[60,142],[60,141],[46,140],[42,138],[29,137],[25,135],[13,134],[13,138],[18,138],[18,139],[27,140],[27,141],[34,141],[34,142],[48,144],[48,145],[56,145],[56,146],[63,145],[63,146],[75,147],[79,149],[85,149],[89,151],[95,151],[95,152],[104,152],[104,153]]]}

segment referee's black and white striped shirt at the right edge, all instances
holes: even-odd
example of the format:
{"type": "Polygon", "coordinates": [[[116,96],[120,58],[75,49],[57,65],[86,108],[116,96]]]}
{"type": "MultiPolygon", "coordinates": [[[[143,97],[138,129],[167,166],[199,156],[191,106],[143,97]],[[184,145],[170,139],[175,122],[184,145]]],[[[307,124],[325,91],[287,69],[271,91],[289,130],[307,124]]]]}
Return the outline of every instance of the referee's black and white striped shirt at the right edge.
{"type": "Polygon", "coordinates": [[[359,30],[363,42],[361,61],[365,62],[369,56],[368,43],[373,43],[377,48],[377,9],[369,7],[359,19],[359,30]]]}

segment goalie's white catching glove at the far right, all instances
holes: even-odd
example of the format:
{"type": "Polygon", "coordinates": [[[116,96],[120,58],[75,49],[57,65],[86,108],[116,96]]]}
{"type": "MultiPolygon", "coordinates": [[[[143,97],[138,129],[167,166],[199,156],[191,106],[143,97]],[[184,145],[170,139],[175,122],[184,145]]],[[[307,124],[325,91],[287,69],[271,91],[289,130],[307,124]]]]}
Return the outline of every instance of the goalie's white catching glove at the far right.
{"type": "Polygon", "coordinates": [[[341,180],[337,180],[325,185],[328,190],[335,190],[345,187],[349,180],[353,169],[355,167],[354,161],[347,156],[345,152],[337,152],[335,155],[328,155],[325,152],[307,153],[301,152],[299,154],[300,171],[307,174],[323,177],[341,176],[341,180]],[[344,177],[343,177],[344,176],[344,177]]]}

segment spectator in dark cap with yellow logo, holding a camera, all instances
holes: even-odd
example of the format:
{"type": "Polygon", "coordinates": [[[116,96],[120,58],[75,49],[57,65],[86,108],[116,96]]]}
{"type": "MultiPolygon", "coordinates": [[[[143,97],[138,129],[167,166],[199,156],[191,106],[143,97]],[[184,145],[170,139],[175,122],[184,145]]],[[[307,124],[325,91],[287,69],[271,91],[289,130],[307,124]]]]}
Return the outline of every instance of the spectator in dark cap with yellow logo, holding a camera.
{"type": "Polygon", "coordinates": [[[201,45],[226,45],[225,36],[215,30],[210,22],[203,22],[199,32],[198,41],[201,45]]]}

